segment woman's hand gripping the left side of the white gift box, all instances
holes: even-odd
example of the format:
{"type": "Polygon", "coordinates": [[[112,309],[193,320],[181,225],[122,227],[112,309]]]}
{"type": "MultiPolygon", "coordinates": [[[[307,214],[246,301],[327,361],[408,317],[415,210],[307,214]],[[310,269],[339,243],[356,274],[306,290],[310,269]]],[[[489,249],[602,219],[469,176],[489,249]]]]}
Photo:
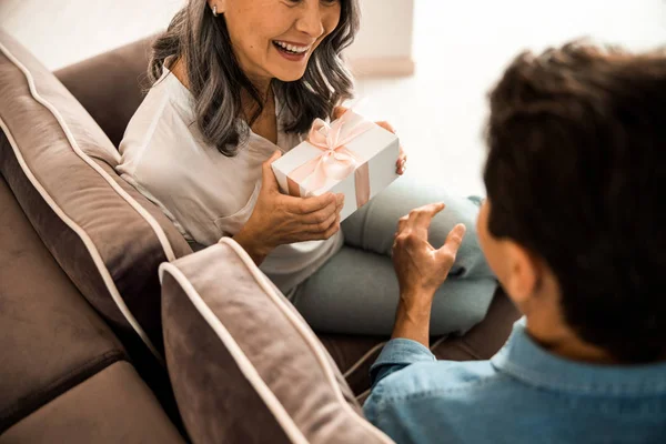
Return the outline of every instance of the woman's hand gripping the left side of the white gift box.
{"type": "Polygon", "coordinates": [[[278,245],[324,240],[340,230],[344,194],[325,193],[294,198],[280,192],[271,163],[280,151],[262,165],[262,184],[252,215],[233,239],[259,265],[278,245]]]}

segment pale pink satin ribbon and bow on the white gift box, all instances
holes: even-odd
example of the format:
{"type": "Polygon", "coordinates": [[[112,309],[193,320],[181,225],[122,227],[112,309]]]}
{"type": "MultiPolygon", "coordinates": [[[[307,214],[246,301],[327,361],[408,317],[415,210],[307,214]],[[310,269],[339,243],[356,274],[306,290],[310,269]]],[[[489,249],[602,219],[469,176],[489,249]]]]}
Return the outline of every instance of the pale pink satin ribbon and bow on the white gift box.
{"type": "Polygon", "coordinates": [[[327,179],[341,181],[354,172],[356,208],[367,203],[370,200],[367,163],[363,163],[363,159],[349,150],[345,144],[371,130],[374,124],[365,120],[356,124],[350,124],[349,122],[353,115],[353,112],[349,110],[331,124],[321,119],[316,119],[312,123],[307,142],[322,150],[322,153],[295,168],[286,175],[291,195],[301,195],[299,183],[314,192],[324,186],[327,179]]]}

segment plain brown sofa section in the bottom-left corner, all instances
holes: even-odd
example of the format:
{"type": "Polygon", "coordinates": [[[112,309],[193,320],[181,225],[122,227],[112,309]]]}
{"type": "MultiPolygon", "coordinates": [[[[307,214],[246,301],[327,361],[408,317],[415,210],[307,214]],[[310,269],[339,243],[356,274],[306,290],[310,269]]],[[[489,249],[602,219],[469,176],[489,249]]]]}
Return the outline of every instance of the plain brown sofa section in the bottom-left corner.
{"type": "Polygon", "coordinates": [[[127,362],[115,363],[0,434],[10,443],[184,443],[127,362]]]}

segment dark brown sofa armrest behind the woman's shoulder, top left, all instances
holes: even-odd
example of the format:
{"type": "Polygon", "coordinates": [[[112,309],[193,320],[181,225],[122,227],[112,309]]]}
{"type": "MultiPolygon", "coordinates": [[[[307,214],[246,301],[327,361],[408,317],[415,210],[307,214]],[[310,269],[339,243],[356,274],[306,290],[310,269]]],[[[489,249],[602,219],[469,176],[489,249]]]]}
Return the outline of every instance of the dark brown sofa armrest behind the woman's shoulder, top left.
{"type": "Polygon", "coordinates": [[[149,37],[56,71],[115,147],[149,87],[153,40],[149,37]]]}

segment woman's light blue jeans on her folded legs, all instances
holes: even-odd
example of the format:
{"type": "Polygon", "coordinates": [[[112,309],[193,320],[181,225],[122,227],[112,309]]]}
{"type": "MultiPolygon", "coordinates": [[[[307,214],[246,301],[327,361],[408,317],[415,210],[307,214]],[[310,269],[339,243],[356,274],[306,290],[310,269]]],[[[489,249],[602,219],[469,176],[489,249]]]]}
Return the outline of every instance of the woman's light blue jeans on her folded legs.
{"type": "Polygon", "coordinates": [[[316,332],[391,334],[398,301],[391,250],[397,220],[433,202],[446,208],[431,224],[430,242],[440,248],[457,223],[467,233],[447,280],[435,294],[431,333],[464,333],[481,322],[497,282],[478,246],[478,198],[454,198],[441,189],[401,178],[342,223],[345,245],[301,283],[292,302],[316,332]]]}

